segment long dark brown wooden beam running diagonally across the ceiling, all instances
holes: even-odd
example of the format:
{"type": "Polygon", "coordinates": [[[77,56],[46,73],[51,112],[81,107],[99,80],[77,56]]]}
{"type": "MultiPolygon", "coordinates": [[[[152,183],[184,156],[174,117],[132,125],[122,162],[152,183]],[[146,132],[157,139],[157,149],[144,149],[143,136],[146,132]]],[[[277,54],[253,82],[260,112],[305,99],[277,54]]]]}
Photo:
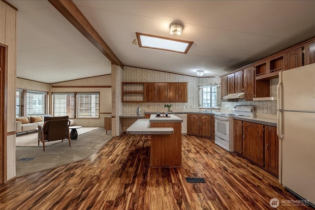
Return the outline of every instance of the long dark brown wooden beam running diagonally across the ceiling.
{"type": "Polygon", "coordinates": [[[113,64],[124,69],[124,64],[118,59],[102,37],[93,28],[72,0],[48,0],[77,30],[79,30],[94,46],[113,64]]]}

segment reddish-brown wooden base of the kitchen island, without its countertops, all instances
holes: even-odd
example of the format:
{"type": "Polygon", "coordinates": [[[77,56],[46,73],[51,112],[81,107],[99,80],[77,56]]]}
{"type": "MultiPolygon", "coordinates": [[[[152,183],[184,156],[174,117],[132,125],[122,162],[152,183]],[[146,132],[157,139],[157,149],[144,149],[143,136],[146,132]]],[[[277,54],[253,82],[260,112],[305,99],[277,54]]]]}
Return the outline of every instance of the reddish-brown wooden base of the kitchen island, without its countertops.
{"type": "Polygon", "coordinates": [[[151,127],[173,127],[173,134],[151,135],[151,167],[182,166],[182,123],[151,122],[151,127]]]}

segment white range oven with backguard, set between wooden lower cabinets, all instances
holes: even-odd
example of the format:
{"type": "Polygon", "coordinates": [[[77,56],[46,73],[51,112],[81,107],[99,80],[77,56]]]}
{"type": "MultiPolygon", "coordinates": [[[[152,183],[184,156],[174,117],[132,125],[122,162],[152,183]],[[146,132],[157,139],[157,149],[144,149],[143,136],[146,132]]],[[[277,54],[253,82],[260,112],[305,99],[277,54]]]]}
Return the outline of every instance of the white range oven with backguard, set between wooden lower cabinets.
{"type": "Polygon", "coordinates": [[[216,113],[215,115],[215,143],[224,150],[234,151],[233,116],[251,116],[251,105],[236,105],[232,113],[216,113]]]}

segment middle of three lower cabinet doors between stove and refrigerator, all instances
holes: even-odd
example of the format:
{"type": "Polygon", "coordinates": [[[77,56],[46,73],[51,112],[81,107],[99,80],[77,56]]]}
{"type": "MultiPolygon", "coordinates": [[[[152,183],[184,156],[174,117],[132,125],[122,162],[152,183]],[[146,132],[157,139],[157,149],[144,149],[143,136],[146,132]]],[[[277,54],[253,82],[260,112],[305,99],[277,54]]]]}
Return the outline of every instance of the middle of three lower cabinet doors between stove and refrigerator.
{"type": "Polygon", "coordinates": [[[262,124],[243,121],[243,156],[264,166],[264,135],[262,124]]]}

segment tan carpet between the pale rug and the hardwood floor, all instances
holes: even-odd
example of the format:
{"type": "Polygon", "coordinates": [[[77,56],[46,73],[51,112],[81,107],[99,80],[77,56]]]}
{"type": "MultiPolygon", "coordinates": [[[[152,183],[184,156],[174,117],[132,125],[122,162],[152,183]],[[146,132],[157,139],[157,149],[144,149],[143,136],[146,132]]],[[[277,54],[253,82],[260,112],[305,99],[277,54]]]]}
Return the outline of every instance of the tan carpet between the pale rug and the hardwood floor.
{"type": "Polygon", "coordinates": [[[111,139],[111,131],[106,135],[104,128],[97,128],[79,135],[76,140],[71,140],[71,147],[68,141],[51,145],[45,148],[45,151],[42,147],[16,147],[16,176],[20,177],[83,160],[111,139]]]}

